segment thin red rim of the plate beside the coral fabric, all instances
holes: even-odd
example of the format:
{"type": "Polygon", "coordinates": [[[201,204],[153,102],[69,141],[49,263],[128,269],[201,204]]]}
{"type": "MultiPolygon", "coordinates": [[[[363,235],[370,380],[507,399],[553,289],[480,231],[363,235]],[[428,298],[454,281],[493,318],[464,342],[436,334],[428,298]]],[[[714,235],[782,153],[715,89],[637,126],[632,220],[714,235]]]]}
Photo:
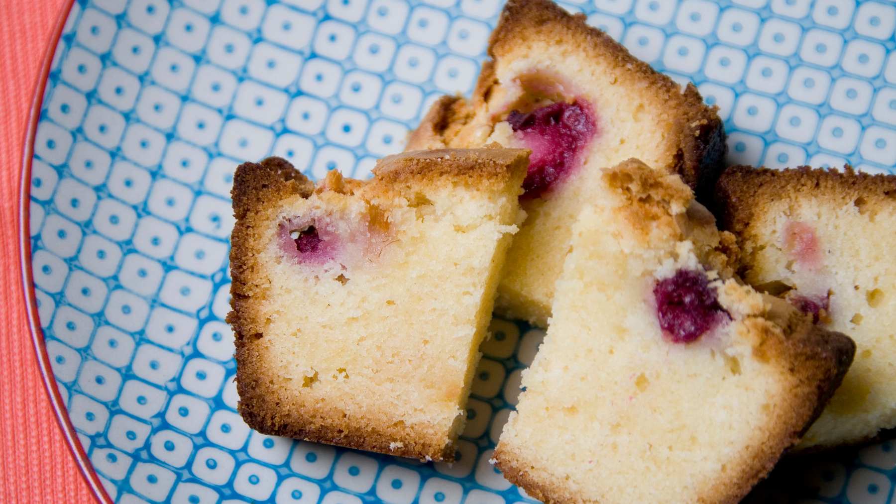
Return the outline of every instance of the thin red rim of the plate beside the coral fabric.
{"type": "Polygon", "coordinates": [[[56,421],[61,427],[63,436],[65,436],[65,444],[72,452],[75,463],[81,469],[81,475],[90,486],[94,497],[100,502],[111,503],[113,500],[109,497],[108,492],[99,480],[99,474],[90,463],[90,457],[82,447],[81,441],[77,438],[77,432],[74,430],[72,419],[68,415],[65,402],[59,389],[56,386],[56,380],[53,378],[53,372],[50,367],[50,359],[47,354],[47,341],[44,336],[43,329],[40,329],[40,318],[37,309],[37,296],[34,291],[34,278],[31,271],[31,239],[30,239],[30,201],[31,201],[31,162],[34,158],[34,140],[38,131],[40,120],[40,109],[43,107],[44,93],[47,90],[47,81],[49,80],[50,66],[53,64],[53,58],[56,56],[56,48],[59,40],[62,38],[62,32],[65,29],[65,23],[68,21],[69,15],[72,13],[76,0],[67,0],[57,15],[56,24],[47,38],[47,51],[43,56],[38,72],[37,81],[34,87],[34,96],[31,98],[31,104],[28,112],[28,120],[25,124],[25,138],[22,142],[22,180],[19,189],[19,258],[22,266],[22,294],[24,295],[25,313],[30,329],[31,341],[34,344],[34,352],[38,359],[38,367],[40,374],[44,379],[44,387],[47,389],[47,396],[50,399],[50,405],[56,412],[56,421]]]}

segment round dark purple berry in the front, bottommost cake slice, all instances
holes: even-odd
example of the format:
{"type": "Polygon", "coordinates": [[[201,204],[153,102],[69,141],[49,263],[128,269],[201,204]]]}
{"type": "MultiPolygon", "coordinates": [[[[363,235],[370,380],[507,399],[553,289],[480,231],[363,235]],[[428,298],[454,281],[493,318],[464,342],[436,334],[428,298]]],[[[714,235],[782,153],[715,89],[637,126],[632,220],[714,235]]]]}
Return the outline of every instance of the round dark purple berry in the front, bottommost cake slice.
{"type": "Polygon", "coordinates": [[[678,269],[653,286],[653,296],[659,327],[675,343],[695,341],[713,329],[722,316],[728,316],[702,271],[678,269]]]}

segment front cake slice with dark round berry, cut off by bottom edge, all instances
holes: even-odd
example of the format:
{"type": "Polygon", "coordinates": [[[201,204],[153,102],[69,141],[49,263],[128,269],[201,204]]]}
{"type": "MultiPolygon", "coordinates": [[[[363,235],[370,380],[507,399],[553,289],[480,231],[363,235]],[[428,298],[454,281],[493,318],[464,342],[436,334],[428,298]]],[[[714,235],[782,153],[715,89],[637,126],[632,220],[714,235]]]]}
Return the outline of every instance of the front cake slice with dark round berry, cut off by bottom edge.
{"type": "Polygon", "coordinates": [[[601,181],[497,465],[545,502],[736,502],[855,345],[732,278],[733,237],[677,175],[630,160],[601,181]]]}

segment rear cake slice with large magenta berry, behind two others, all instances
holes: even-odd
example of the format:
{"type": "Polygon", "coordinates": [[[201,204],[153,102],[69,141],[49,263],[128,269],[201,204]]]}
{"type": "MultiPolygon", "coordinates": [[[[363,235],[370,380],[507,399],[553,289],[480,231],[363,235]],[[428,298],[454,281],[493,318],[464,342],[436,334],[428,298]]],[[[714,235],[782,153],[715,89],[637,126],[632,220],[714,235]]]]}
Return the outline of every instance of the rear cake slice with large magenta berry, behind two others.
{"type": "Polygon", "coordinates": [[[640,158],[711,188],[725,134],[693,85],[682,89],[612,38],[548,0],[510,0],[470,99],[435,102],[408,149],[532,150],[497,311],[545,327],[570,227],[599,186],[588,172],[640,158]]]}

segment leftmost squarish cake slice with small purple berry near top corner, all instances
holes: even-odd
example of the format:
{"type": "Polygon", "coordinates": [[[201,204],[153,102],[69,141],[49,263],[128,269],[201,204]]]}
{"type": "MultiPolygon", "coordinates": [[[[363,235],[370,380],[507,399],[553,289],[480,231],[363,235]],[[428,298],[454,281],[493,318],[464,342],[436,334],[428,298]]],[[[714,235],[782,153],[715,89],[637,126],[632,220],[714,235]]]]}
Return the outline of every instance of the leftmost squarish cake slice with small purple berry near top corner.
{"type": "Polygon", "coordinates": [[[451,461],[527,164],[409,152],[316,188],[280,158],[238,167],[228,322],[246,423],[451,461]]]}

